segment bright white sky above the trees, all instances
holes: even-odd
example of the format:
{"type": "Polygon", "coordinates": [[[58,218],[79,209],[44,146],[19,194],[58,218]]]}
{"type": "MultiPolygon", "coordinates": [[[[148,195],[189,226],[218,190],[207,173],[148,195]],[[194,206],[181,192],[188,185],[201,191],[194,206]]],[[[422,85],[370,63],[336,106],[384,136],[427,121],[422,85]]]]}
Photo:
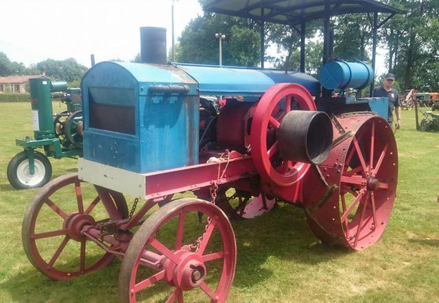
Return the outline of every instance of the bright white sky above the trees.
{"type": "MultiPolygon", "coordinates": [[[[140,51],[139,27],[167,29],[171,47],[172,0],[21,0],[1,4],[0,51],[12,61],[29,64],[47,58],[96,62],[132,60],[140,51]]],[[[176,0],[176,41],[185,26],[202,14],[198,0],[176,0]]],[[[377,75],[385,72],[385,50],[377,51],[377,75]]],[[[267,55],[276,55],[268,49],[267,55]]]]}

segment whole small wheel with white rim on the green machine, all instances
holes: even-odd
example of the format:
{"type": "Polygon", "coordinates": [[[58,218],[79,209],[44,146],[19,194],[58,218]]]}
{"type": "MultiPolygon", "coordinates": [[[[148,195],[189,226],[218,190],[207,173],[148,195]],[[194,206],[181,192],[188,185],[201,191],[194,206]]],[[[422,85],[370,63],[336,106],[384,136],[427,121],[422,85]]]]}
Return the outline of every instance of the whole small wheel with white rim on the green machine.
{"type": "Polygon", "coordinates": [[[52,166],[49,159],[34,151],[34,173],[30,173],[26,151],[16,154],[8,164],[8,180],[15,189],[33,189],[49,182],[52,166]]]}

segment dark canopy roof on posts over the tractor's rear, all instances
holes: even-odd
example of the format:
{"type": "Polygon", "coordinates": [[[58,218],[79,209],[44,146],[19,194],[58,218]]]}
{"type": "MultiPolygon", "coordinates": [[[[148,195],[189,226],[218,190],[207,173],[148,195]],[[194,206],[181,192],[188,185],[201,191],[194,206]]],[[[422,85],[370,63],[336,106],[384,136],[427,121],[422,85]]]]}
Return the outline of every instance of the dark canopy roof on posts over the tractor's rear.
{"type": "MultiPolygon", "coordinates": [[[[204,11],[217,12],[270,23],[298,25],[302,21],[322,19],[325,16],[327,0],[211,0],[204,5],[204,11]],[[263,8],[263,10],[261,9],[263,8]]],[[[329,0],[330,15],[359,12],[381,12],[403,14],[375,0],[329,0]]]]}

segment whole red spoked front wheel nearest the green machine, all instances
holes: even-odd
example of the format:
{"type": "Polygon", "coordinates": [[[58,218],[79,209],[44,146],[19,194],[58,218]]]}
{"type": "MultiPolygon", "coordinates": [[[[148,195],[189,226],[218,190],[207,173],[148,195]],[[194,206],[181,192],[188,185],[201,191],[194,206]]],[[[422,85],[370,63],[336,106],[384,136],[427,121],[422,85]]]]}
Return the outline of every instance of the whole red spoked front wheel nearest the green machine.
{"type": "Polygon", "coordinates": [[[32,265],[49,278],[80,276],[104,267],[113,258],[87,241],[82,226],[126,217],[128,207],[121,193],[82,182],[77,173],[62,175],[43,186],[27,208],[23,247],[32,265]]]}

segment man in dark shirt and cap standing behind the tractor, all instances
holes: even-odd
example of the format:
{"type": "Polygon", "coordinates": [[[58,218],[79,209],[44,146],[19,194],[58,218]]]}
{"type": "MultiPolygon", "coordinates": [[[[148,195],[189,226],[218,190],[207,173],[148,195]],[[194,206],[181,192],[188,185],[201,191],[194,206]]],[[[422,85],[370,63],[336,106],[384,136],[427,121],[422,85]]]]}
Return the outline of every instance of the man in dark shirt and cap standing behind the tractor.
{"type": "Polygon", "coordinates": [[[395,83],[395,75],[388,73],[385,75],[383,85],[373,90],[373,97],[387,97],[389,99],[389,116],[388,123],[393,126],[393,109],[396,114],[396,129],[401,128],[401,106],[399,105],[398,91],[392,86],[395,83]]]}

